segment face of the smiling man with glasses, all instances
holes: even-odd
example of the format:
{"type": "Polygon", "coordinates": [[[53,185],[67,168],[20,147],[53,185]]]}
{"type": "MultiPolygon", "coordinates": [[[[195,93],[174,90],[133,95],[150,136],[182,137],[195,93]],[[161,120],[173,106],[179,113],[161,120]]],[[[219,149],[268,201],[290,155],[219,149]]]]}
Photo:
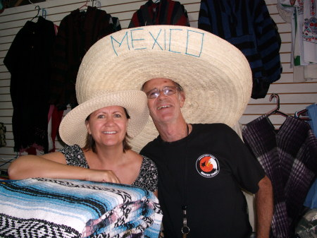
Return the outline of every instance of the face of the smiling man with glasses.
{"type": "Polygon", "coordinates": [[[181,116],[180,108],[184,105],[185,95],[184,92],[175,89],[175,86],[176,84],[167,78],[152,78],[144,83],[143,91],[148,95],[147,105],[155,123],[174,121],[181,116]],[[176,93],[165,95],[165,87],[172,87],[176,93]],[[149,98],[149,92],[154,89],[160,90],[159,97],[149,98]]]}

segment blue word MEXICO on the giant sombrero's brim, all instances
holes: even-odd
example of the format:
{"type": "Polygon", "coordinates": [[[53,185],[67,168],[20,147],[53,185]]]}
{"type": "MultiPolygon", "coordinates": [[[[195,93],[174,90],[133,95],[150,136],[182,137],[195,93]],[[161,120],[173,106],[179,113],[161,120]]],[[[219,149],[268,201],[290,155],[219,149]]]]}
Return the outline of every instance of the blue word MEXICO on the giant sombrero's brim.
{"type": "MultiPolygon", "coordinates": [[[[196,56],[196,57],[200,57],[202,49],[203,49],[203,43],[204,43],[204,32],[198,32],[195,30],[187,30],[187,35],[186,38],[184,40],[184,42],[180,42],[181,44],[184,43],[184,52],[178,52],[175,51],[173,49],[173,39],[175,38],[180,38],[182,39],[182,37],[179,37],[180,35],[180,31],[183,31],[183,29],[180,28],[174,28],[174,29],[169,29],[169,39],[166,39],[166,30],[163,30],[162,33],[162,29],[159,30],[159,32],[151,32],[149,31],[149,39],[144,39],[144,38],[138,38],[136,31],[139,30],[144,30],[144,28],[137,28],[137,29],[131,29],[130,30],[130,37],[128,37],[128,31],[125,32],[125,34],[123,35],[122,40],[116,40],[112,35],[111,35],[111,44],[113,47],[113,52],[115,52],[115,54],[118,56],[118,50],[115,47],[115,44],[118,44],[118,48],[126,46],[128,47],[128,50],[134,49],[134,50],[143,50],[143,49],[147,49],[146,46],[142,46],[142,41],[144,40],[153,40],[153,44],[151,49],[154,49],[154,47],[159,47],[162,51],[163,50],[168,50],[168,52],[173,52],[175,54],[187,54],[190,56],[196,56]],[[163,35],[162,35],[163,34],[163,35]],[[197,34],[199,34],[200,36],[197,37],[197,34]],[[160,37],[160,35],[162,35],[160,37]],[[195,37],[191,37],[191,35],[195,36],[195,37]],[[200,41],[199,41],[200,39],[200,41]],[[137,42],[139,42],[140,44],[136,44],[137,42]],[[129,44],[130,43],[130,44],[129,44]],[[194,46],[194,49],[192,50],[192,52],[190,52],[190,50],[193,47],[189,47],[189,44],[191,46],[194,46]],[[131,45],[131,47],[130,47],[131,45]],[[142,47],[137,47],[137,45],[141,45],[142,47]],[[168,45],[168,49],[166,49],[166,46],[168,45]]],[[[146,34],[142,34],[144,35],[144,37],[147,37],[146,34]]],[[[179,43],[179,42],[178,42],[179,43]]]]}

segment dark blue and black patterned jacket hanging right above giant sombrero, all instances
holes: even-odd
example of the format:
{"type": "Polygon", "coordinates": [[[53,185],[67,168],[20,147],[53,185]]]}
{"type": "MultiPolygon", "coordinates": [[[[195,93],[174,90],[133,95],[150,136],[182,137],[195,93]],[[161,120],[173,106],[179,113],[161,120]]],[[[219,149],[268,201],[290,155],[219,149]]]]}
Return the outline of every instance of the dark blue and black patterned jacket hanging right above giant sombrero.
{"type": "Polygon", "coordinates": [[[280,79],[280,35],[264,0],[201,0],[198,28],[227,40],[249,61],[251,97],[263,98],[280,79]]]}

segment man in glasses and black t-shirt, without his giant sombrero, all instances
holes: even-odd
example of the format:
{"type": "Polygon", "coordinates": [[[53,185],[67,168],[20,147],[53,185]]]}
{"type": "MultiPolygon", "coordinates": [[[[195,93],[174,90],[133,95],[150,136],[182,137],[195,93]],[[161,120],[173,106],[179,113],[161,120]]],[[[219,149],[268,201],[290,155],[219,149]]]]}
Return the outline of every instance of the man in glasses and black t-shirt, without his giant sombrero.
{"type": "Polygon", "coordinates": [[[169,79],[151,79],[142,90],[159,137],[141,154],[151,157],[159,169],[165,237],[181,237],[181,231],[188,231],[187,237],[248,237],[240,186],[256,194],[257,237],[268,237],[271,182],[237,134],[225,124],[187,124],[180,111],[185,93],[169,79]]]}

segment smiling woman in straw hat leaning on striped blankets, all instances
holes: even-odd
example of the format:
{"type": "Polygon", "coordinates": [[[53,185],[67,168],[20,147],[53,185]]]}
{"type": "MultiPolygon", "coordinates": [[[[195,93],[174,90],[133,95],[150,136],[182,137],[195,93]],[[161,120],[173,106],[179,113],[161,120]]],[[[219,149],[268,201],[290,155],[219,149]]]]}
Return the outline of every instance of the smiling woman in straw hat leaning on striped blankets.
{"type": "Polygon", "coordinates": [[[80,98],[83,102],[66,114],[59,128],[68,146],[46,155],[18,157],[8,168],[10,179],[46,177],[132,184],[157,196],[156,165],[128,145],[128,138],[137,136],[149,118],[145,93],[100,91],[80,98]]]}

